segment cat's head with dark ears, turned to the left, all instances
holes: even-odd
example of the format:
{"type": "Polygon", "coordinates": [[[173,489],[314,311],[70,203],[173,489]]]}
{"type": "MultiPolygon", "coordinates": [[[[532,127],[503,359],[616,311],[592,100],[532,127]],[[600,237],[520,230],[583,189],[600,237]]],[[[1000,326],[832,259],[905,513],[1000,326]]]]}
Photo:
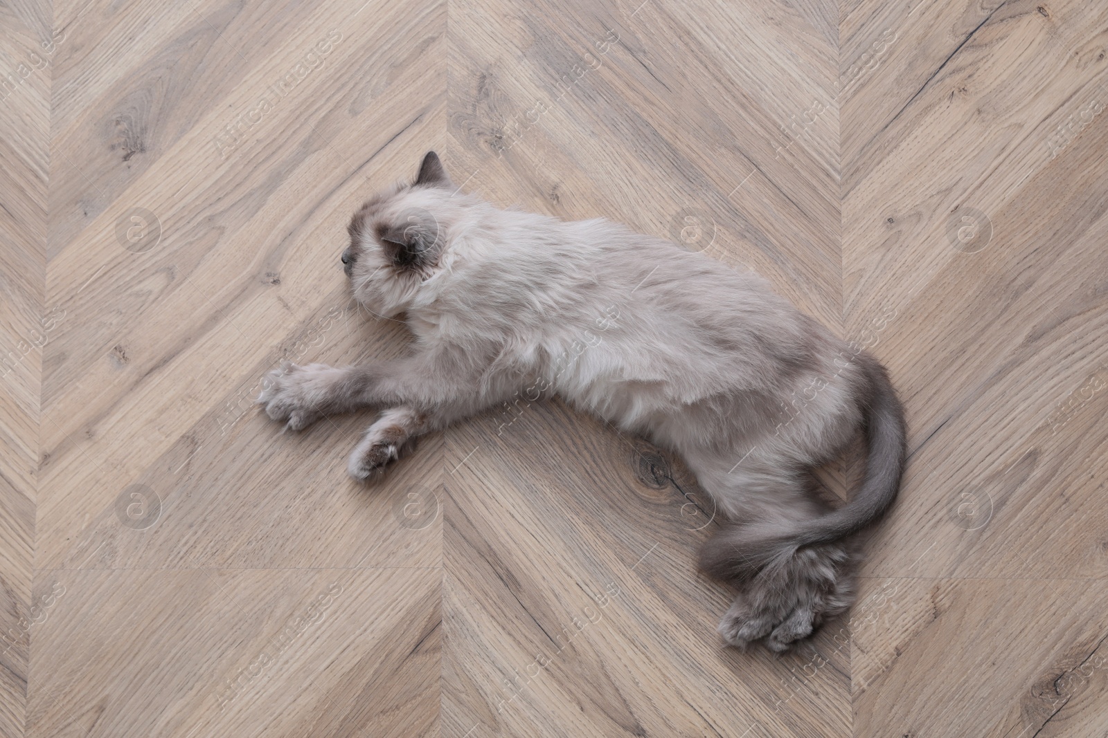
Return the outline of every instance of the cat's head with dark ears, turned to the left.
{"type": "Polygon", "coordinates": [[[409,306],[441,266],[448,243],[443,220],[454,193],[439,156],[428,152],[414,181],[361,206],[347,227],[350,246],[341,257],[356,300],[386,316],[409,306]]]}

